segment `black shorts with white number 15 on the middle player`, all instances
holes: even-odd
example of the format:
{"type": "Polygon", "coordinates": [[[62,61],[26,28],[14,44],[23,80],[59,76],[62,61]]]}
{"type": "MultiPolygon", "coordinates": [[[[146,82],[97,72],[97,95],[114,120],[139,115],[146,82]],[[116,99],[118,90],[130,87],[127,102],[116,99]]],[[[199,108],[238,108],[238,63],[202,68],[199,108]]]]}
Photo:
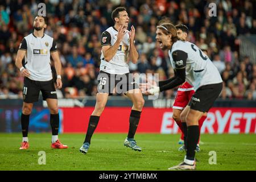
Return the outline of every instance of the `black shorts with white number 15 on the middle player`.
{"type": "Polygon", "coordinates": [[[132,73],[126,73],[123,75],[115,75],[100,71],[98,75],[98,93],[112,94],[115,89],[115,93],[126,93],[129,90],[138,89],[139,85],[135,82],[132,73]]]}

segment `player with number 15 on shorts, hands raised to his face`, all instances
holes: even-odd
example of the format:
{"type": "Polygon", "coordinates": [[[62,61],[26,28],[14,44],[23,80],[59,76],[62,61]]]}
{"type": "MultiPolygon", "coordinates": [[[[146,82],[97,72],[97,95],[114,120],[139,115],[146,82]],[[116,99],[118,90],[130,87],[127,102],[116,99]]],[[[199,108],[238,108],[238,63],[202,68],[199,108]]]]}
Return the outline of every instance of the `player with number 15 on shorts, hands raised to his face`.
{"type": "MultiPolygon", "coordinates": [[[[89,119],[86,137],[80,148],[80,152],[83,154],[88,152],[90,140],[98,125],[100,115],[108,101],[108,96],[113,93],[113,90],[125,93],[133,102],[129,118],[129,133],[124,145],[135,151],[141,151],[141,147],[137,146],[137,142],[134,140],[134,135],[139,124],[144,100],[133,75],[129,74],[127,65],[127,61],[133,63],[138,61],[138,52],[134,44],[135,28],[131,26],[131,31],[127,30],[129,15],[124,7],[117,7],[113,10],[112,19],[115,23],[114,26],[109,27],[101,35],[102,50],[98,93],[94,111],[89,119]]],[[[123,122],[122,118],[119,122],[123,122]]]]}

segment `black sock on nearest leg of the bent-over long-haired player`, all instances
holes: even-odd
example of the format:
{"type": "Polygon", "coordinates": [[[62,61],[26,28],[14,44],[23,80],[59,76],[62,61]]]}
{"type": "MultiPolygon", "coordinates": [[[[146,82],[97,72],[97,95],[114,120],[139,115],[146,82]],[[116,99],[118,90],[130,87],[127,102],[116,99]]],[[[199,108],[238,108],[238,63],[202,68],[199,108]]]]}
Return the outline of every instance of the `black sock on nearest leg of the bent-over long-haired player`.
{"type": "Polygon", "coordinates": [[[196,144],[199,140],[199,126],[193,125],[188,126],[188,135],[187,135],[187,156],[188,160],[195,160],[196,155],[196,144]]]}

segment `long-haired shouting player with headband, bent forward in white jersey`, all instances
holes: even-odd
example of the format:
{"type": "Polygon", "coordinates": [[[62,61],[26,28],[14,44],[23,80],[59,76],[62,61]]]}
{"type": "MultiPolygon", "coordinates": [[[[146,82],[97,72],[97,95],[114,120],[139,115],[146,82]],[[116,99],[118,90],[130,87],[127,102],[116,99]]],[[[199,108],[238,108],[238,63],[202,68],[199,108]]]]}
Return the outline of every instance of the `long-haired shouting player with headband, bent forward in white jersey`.
{"type": "Polygon", "coordinates": [[[151,86],[147,91],[155,94],[175,88],[187,81],[195,88],[189,104],[181,114],[185,114],[183,130],[187,130],[186,155],[184,162],[168,169],[195,169],[195,149],[199,140],[199,119],[212,107],[222,90],[222,79],[212,61],[195,44],[177,38],[177,31],[171,23],[160,23],[156,27],[156,41],[161,49],[169,50],[169,57],[175,76],[160,81],[161,86],[151,86]]]}

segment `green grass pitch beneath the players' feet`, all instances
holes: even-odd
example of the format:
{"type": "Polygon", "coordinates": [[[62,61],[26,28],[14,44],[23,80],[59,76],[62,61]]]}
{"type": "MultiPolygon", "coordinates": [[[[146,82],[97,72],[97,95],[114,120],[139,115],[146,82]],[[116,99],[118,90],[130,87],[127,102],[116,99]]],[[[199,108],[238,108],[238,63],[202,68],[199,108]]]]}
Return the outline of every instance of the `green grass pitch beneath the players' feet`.
{"type": "MultiPolygon", "coordinates": [[[[179,135],[136,134],[142,151],[123,146],[126,134],[94,134],[88,154],[79,148],[84,134],[61,134],[65,150],[50,147],[51,134],[29,134],[30,148],[20,151],[22,134],[0,133],[0,170],[167,170],[184,159],[177,151],[179,135]],[[46,164],[39,165],[39,151],[46,152],[46,164]]],[[[201,135],[201,152],[196,154],[197,170],[256,170],[256,135],[201,135]],[[216,151],[217,164],[209,164],[210,151],[216,151]]]]}

